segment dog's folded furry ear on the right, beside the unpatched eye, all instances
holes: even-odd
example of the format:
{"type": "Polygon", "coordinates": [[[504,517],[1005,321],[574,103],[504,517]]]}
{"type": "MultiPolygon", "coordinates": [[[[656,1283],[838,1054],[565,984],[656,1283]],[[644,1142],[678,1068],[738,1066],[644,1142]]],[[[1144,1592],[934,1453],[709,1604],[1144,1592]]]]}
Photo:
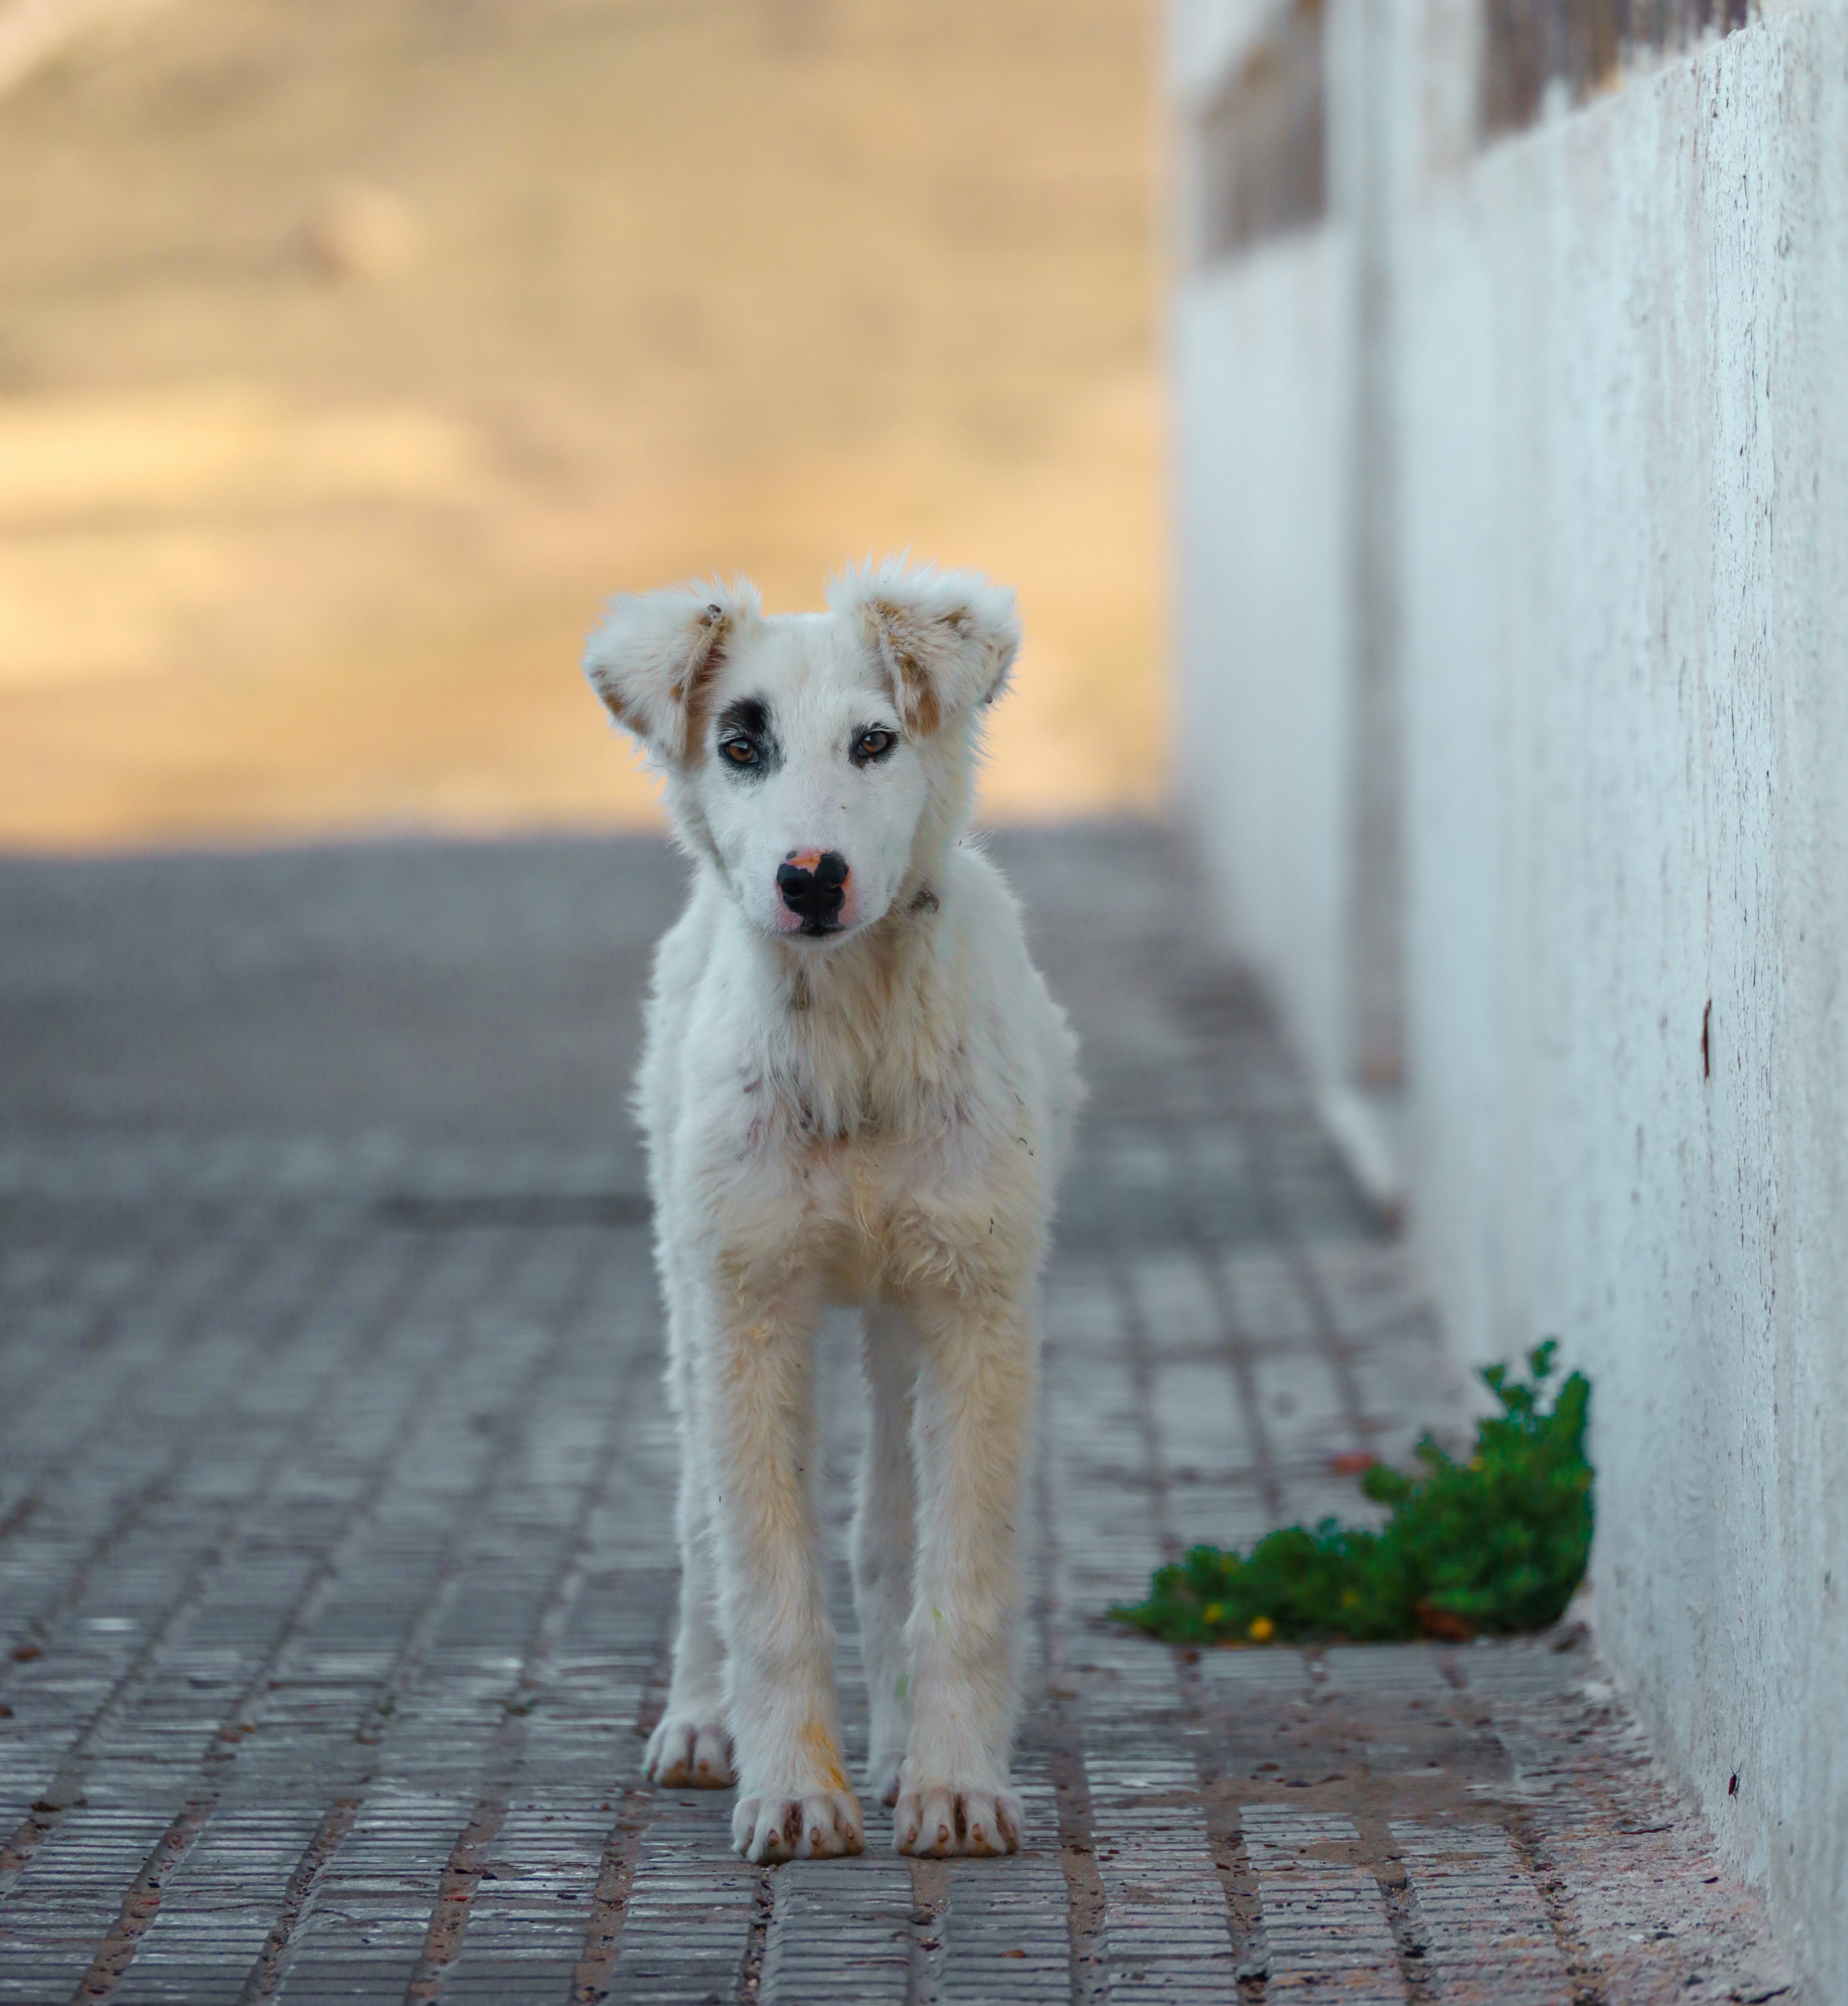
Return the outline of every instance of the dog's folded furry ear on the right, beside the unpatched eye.
{"type": "Polygon", "coordinates": [[[885,664],[907,732],[929,738],[945,718],[991,704],[1007,688],[1019,652],[1007,586],[991,586],[979,572],[887,558],[831,578],[827,598],[885,664]]]}

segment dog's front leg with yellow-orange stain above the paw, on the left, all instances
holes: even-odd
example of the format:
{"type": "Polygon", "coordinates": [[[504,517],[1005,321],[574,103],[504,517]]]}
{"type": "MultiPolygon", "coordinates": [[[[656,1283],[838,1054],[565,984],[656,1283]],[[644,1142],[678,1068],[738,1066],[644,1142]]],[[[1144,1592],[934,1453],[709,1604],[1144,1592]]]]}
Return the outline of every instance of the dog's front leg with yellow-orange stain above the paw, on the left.
{"type": "Polygon", "coordinates": [[[815,1551],[817,1306],[748,1280],[710,1300],[700,1406],[738,1769],[732,1840],[758,1862],[857,1854],[815,1551]]]}

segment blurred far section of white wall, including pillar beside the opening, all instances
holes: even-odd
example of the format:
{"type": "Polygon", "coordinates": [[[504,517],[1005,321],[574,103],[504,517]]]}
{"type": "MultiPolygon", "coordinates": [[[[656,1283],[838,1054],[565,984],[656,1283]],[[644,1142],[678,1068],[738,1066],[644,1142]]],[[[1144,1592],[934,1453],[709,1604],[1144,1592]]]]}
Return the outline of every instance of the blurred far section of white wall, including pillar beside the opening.
{"type": "MultiPolygon", "coordinates": [[[[1288,4],[1174,0],[1182,124],[1288,4]]],[[[1378,495],[1397,441],[1376,377],[1380,253],[1417,152],[1391,108],[1417,64],[1389,22],[1368,0],[1326,10],[1326,215],[1184,271],[1170,335],[1178,786],[1222,925],[1330,1089],[1395,1081],[1403,1051],[1399,622],[1378,495]]],[[[1192,247],[1210,233],[1182,183],[1192,247]]]]}

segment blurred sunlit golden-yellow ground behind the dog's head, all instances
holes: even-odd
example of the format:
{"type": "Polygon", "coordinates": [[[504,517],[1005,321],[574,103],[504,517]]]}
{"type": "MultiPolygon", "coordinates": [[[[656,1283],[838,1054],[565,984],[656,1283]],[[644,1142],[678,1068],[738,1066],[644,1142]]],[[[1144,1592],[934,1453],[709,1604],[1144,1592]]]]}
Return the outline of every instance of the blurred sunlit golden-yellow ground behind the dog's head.
{"type": "Polygon", "coordinates": [[[0,94],[0,845],[648,824],[602,598],[901,546],[1021,590],[987,812],[1154,802],[1154,26],[104,10],[0,94]]]}

